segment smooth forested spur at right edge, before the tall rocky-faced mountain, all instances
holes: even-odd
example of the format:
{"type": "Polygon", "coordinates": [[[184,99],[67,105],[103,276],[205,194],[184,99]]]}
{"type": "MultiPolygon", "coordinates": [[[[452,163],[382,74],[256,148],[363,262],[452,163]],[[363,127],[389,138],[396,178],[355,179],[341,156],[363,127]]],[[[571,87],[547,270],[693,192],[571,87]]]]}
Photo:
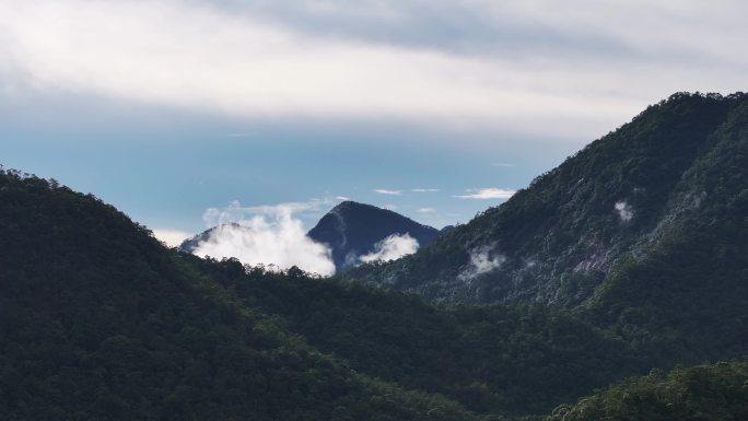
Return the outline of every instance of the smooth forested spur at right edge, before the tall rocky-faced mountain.
{"type": "Polygon", "coordinates": [[[748,104],[704,149],[670,195],[675,217],[588,303],[629,341],[667,338],[693,361],[748,354],[748,104]]]}

